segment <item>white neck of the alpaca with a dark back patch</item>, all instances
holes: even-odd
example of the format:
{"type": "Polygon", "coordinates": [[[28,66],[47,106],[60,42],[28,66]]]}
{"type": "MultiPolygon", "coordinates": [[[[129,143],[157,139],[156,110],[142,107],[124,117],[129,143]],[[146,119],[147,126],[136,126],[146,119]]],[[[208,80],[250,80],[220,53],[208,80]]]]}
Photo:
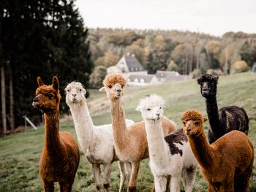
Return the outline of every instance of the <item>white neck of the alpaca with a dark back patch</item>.
{"type": "Polygon", "coordinates": [[[161,161],[162,159],[166,160],[170,153],[166,148],[161,120],[144,120],[144,122],[151,161],[156,162],[159,160],[161,161]]]}

